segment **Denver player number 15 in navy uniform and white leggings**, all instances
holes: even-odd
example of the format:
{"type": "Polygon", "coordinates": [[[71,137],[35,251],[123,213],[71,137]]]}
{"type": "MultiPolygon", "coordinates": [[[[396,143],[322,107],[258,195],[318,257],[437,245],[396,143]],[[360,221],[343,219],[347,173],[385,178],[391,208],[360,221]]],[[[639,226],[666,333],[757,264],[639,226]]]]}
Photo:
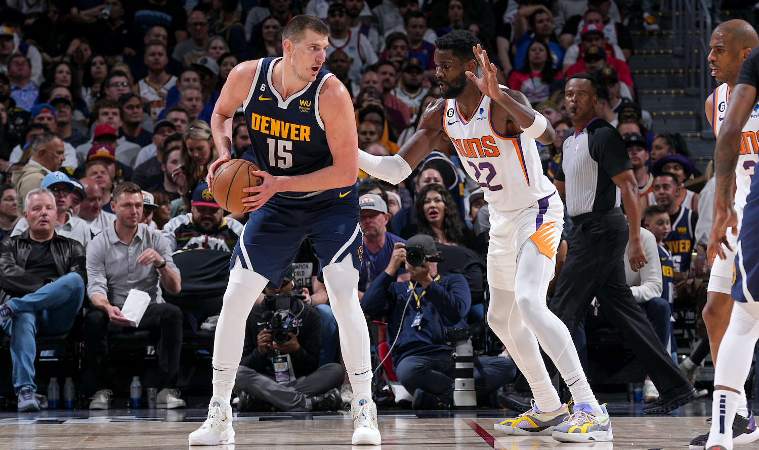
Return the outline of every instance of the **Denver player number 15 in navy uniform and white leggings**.
{"type": "MultiPolygon", "coordinates": [[[[342,355],[353,387],[354,445],[379,445],[371,398],[370,341],[358,302],[362,241],[356,178],[358,135],[351,95],[322,68],[329,46],[317,17],[293,17],[282,31],[282,58],[245,61],[229,73],[211,127],[219,164],[231,158],[231,123],[243,106],[250,134],[244,158],[261,170],[260,186],[244,198],[250,217],[231,258],[229,283],[213,347],[213,397],[208,418],[190,445],[235,442],[231,390],[242,355],[245,321],[267,285],[280,286],[309,238],[320,262],[342,355]]],[[[247,177],[247,174],[244,174],[247,177]]],[[[276,342],[268,343],[277,349],[276,342]]]]}

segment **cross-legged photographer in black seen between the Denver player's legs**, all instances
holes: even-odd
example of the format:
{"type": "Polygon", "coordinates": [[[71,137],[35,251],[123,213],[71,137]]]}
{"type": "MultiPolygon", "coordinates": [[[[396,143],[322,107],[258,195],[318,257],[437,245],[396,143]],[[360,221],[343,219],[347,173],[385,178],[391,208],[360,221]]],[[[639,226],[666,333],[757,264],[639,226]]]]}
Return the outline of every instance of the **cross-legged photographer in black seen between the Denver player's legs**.
{"type": "Polygon", "coordinates": [[[345,370],[340,364],[319,367],[322,319],[292,291],[291,268],[279,289],[265,289],[263,302],[250,311],[235,392],[238,411],[337,411],[345,370]],[[318,367],[318,368],[317,368],[318,367]],[[267,405],[268,404],[268,405],[267,405]]]}

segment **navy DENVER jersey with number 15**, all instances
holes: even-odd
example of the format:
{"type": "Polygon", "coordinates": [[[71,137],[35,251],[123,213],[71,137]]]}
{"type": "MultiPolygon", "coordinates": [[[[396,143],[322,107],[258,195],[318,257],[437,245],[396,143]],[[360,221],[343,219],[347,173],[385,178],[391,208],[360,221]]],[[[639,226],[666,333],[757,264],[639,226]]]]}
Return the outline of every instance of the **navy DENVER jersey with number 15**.
{"type": "MultiPolygon", "coordinates": [[[[274,64],[281,59],[258,61],[253,86],[243,105],[251,144],[243,158],[277,177],[292,177],[332,165],[319,115],[319,92],[332,73],[322,68],[316,81],[282,100],[271,83],[274,64]]],[[[282,192],[294,197],[304,194],[307,192],[282,192]]]]}

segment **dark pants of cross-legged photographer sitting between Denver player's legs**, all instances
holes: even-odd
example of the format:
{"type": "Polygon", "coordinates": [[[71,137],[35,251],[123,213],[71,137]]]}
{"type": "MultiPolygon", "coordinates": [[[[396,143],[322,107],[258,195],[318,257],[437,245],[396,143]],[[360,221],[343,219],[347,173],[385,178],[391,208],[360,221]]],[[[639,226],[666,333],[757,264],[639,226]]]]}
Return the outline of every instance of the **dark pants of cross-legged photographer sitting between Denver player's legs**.
{"type": "Polygon", "coordinates": [[[240,391],[245,391],[282,411],[306,411],[307,398],[339,388],[344,379],[345,369],[337,363],[324,364],[305,377],[282,384],[274,381],[269,374],[240,366],[235,379],[235,392],[239,395],[240,391]]]}

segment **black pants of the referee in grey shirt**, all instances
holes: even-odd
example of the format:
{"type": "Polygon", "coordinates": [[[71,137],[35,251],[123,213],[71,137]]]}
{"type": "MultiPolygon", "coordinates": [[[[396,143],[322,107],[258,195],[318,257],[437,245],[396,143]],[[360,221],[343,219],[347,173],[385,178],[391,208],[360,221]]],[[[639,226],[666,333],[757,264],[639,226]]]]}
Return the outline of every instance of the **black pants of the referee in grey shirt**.
{"type": "Polygon", "coordinates": [[[550,310],[575,330],[593,298],[598,298],[606,318],[622,333],[659,392],[688,383],[627,286],[628,225],[622,211],[613,208],[572,220],[575,227],[550,310]]]}

